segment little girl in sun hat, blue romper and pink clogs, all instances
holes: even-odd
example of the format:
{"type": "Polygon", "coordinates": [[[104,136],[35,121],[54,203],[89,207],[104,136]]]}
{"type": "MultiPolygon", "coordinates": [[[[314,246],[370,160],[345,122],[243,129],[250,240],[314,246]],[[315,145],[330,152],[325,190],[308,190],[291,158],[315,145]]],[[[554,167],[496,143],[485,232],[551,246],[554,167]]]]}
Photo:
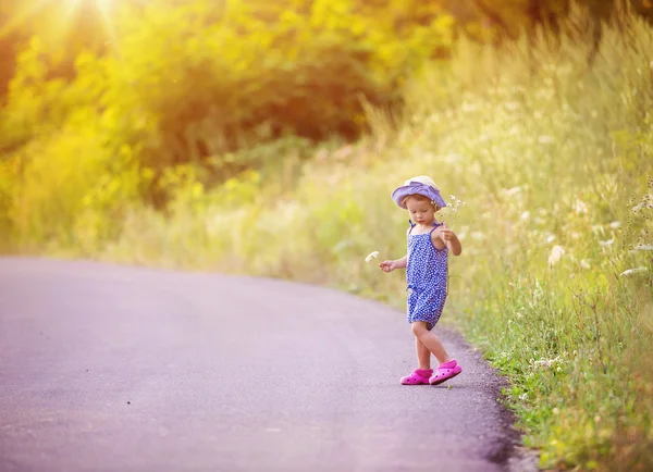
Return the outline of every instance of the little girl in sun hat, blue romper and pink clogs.
{"type": "Polygon", "coordinates": [[[458,256],[463,247],[456,234],[444,222],[435,220],[435,212],[446,204],[431,178],[426,175],[409,178],[393,191],[392,199],[410,213],[408,253],[379,264],[386,273],[406,268],[406,289],[410,290],[407,318],[415,334],[418,369],[403,377],[402,384],[438,385],[463,372],[438,336],[431,333],[446,300],[448,252],[458,256]],[[431,353],[440,362],[435,374],[431,369],[431,353]]]}

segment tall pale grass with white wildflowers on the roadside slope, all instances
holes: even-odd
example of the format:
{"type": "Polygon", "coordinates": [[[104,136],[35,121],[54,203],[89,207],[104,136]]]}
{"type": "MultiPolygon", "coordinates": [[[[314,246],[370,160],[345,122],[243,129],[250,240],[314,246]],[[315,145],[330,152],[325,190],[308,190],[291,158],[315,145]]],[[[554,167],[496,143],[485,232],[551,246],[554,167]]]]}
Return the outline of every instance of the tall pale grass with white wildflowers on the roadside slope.
{"type": "Polygon", "coordinates": [[[57,250],[301,280],[403,307],[403,274],[364,258],[405,253],[407,214],[390,192],[429,174],[466,202],[445,218],[464,244],[445,318],[509,377],[540,465],[651,470],[653,33],[634,23],[631,37],[607,30],[591,67],[582,41],[463,42],[407,85],[401,126],[371,111],[370,137],[288,160],[273,178],[207,190],[186,175],[165,214],[136,206],[100,249],[57,250]]]}

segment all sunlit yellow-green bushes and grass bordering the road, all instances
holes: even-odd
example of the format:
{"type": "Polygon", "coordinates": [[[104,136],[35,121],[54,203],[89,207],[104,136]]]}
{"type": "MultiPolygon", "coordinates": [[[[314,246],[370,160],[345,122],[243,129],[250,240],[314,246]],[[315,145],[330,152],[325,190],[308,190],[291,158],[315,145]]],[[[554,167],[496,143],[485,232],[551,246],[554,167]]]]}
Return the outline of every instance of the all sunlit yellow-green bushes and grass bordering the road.
{"type": "Polygon", "coordinates": [[[449,322],[544,469],[653,469],[649,0],[0,0],[0,249],[403,307],[429,174],[449,322]],[[453,198],[453,197],[452,197],[453,198]]]}

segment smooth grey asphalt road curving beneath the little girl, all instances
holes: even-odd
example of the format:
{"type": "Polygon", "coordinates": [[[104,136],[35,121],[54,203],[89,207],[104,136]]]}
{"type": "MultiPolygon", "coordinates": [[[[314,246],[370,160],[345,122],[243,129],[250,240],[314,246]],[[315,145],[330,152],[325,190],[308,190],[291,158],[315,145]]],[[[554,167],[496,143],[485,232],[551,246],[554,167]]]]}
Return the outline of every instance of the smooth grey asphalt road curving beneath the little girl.
{"type": "Polygon", "coordinates": [[[444,339],[463,374],[402,386],[411,334],[380,303],[3,258],[0,472],[506,470],[516,437],[500,381],[444,339]]]}

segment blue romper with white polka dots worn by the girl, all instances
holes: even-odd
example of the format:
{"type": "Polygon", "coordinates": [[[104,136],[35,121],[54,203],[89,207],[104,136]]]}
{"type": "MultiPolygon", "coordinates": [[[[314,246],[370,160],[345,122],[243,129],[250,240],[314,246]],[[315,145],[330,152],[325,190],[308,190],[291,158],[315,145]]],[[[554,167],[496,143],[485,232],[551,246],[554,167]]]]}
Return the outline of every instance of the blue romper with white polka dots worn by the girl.
{"type": "Polygon", "coordinates": [[[427,328],[433,330],[446,301],[448,248],[436,249],[431,234],[442,223],[433,223],[429,233],[411,234],[415,224],[410,222],[408,232],[408,259],[406,265],[406,290],[408,294],[408,323],[426,321],[427,328]]]}

